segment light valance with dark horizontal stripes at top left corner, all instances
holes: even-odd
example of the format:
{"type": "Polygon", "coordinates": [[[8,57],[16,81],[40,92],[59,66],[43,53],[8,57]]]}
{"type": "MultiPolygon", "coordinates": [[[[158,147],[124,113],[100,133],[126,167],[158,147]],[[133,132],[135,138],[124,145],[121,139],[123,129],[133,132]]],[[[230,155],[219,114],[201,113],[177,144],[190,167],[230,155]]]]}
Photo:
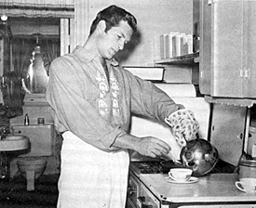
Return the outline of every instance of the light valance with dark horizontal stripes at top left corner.
{"type": "Polygon", "coordinates": [[[74,18],[74,0],[0,0],[0,14],[26,18],[74,18]]]}

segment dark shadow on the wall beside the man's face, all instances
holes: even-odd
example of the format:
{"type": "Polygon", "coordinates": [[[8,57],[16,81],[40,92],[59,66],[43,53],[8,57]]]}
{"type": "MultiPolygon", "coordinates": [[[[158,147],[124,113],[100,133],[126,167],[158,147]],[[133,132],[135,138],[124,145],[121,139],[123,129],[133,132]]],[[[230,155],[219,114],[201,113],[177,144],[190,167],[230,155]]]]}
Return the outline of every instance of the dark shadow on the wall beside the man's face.
{"type": "Polygon", "coordinates": [[[138,30],[132,35],[128,45],[125,45],[123,50],[115,54],[115,59],[119,62],[119,64],[122,64],[122,62],[126,61],[128,59],[128,56],[130,56],[133,53],[135,47],[140,44],[141,32],[138,30]]]}

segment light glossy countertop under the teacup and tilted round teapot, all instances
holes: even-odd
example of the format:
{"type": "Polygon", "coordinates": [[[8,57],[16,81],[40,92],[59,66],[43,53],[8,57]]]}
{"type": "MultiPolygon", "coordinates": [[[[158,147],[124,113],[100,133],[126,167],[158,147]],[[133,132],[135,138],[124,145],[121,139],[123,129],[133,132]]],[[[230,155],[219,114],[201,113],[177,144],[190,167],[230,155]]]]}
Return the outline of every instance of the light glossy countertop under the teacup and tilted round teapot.
{"type": "MultiPolygon", "coordinates": [[[[138,176],[138,175],[137,175],[138,176]]],[[[167,182],[162,174],[140,174],[141,182],[160,202],[172,203],[255,203],[256,194],[236,189],[236,174],[210,174],[192,184],[167,182]]]]}

